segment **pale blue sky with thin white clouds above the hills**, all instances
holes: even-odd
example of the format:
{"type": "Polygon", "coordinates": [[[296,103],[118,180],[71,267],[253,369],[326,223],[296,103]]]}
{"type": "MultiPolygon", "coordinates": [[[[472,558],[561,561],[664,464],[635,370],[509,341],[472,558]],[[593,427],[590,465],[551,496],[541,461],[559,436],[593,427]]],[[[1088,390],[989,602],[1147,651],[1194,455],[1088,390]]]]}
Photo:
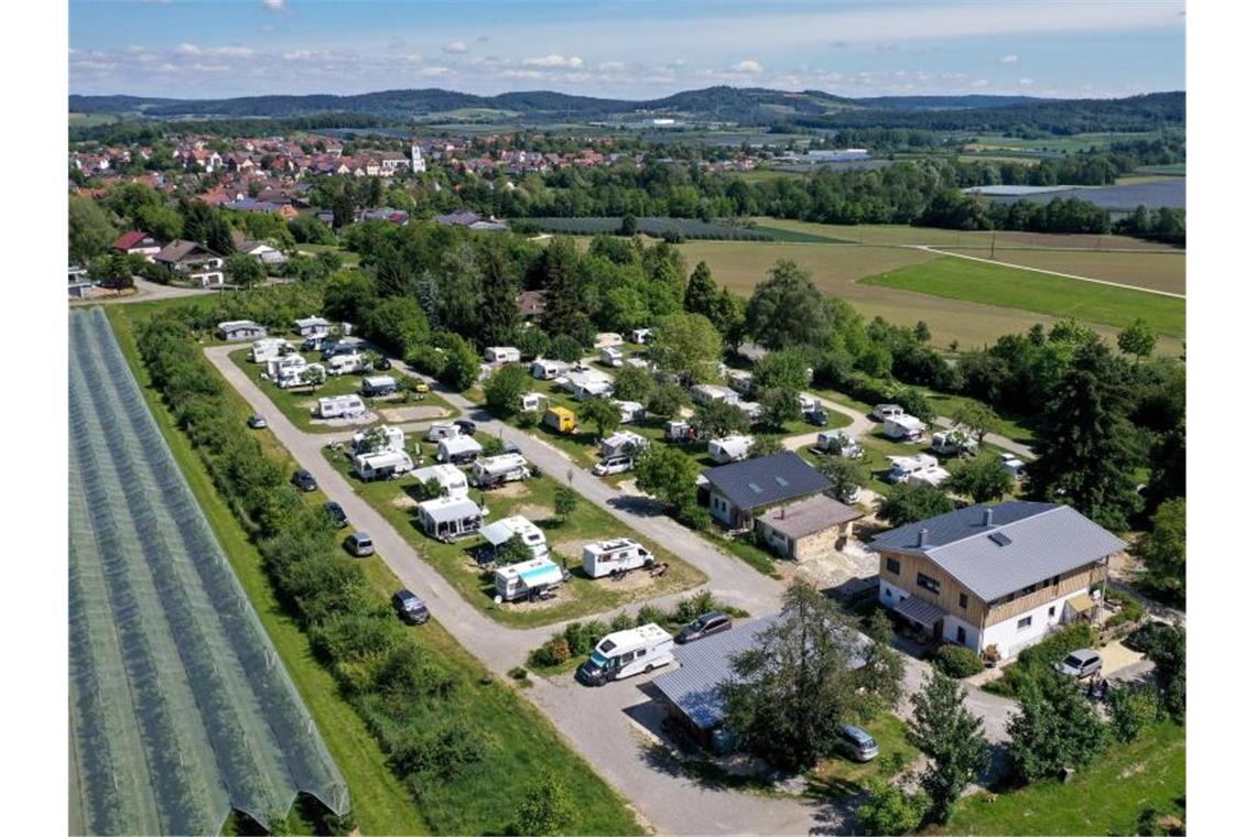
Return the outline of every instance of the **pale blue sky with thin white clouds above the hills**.
{"type": "Polygon", "coordinates": [[[69,43],[70,93],[196,99],[432,87],[627,99],[713,84],[849,97],[1186,89],[1182,0],[72,0],[69,43]]]}

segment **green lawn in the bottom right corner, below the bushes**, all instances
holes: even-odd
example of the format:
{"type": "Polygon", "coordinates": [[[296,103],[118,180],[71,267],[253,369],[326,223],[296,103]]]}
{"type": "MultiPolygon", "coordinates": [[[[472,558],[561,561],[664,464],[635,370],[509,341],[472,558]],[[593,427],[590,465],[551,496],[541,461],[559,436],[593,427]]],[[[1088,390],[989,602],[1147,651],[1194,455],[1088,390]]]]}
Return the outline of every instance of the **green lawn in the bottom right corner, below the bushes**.
{"type": "Polygon", "coordinates": [[[1154,808],[1186,818],[1186,729],[1162,722],[1132,744],[1114,744],[1068,783],[1039,782],[960,802],[955,834],[1130,834],[1154,808]]]}

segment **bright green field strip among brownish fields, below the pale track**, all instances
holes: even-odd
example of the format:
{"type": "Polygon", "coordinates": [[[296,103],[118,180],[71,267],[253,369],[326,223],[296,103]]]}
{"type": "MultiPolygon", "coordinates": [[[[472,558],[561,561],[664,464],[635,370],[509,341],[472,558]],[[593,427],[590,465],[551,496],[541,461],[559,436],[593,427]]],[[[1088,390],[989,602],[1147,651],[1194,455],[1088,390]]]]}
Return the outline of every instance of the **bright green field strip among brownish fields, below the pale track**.
{"type": "Polygon", "coordinates": [[[913,265],[869,276],[863,282],[1058,317],[1073,316],[1115,328],[1124,328],[1140,316],[1157,334],[1186,334],[1184,300],[1044,276],[990,262],[941,259],[927,266],[913,265]]]}

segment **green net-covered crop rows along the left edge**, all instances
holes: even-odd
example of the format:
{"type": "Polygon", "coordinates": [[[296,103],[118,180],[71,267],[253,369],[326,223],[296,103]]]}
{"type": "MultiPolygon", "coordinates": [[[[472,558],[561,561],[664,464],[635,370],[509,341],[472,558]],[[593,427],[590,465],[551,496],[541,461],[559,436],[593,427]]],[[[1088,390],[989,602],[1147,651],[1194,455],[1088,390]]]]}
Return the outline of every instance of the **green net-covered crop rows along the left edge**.
{"type": "MultiPolygon", "coordinates": [[[[92,576],[99,563],[108,612],[93,611],[90,619],[106,627],[113,621],[117,664],[126,670],[132,725],[142,740],[142,758],[134,747],[106,750],[109,772],[147,769],[161,812],[156,831],[166,833],[216,831],[230,807],[265,823],[286,812],[299,791],[347,812],[344,781],[148,413],[108,321],[92,311],[72,315],[72,537],[85,530],[72,548],[72,580],[92,576]],[[80,513],[73,509],[75,479],[80,513]],[[178,787],[162,768],[172,758],[190,787],[178,787]]],[[[94,597],[90,604],[99,607],[100,592],[80,585],[77,595],[84,604],[94,597]]],[[[83,670],[108,669],[108,646],[74,641],[73,660],[92,658],[83,670]]],[[[74,675],[82,676],[78,665],[74,675]]],[[[75,689],[72,719],[79,710],[82,725],[90,727],[87,708],[114,691],[116,683],[108,691],[75,689]]],[[[102,723],[117,728],[118,713],[102,723]]],[[[94,732],[84,729],[79,738],[94,732]]],[[[97,801],[109,793],[93,787],[108,781],[106,768],[85,762],[77,755],[87,828],[152,833],[143,827],[146,793],[129,794],[127,816],[108,811],[97,801]],[[122,827],[111,827],[118,819],[122,827]]]]}

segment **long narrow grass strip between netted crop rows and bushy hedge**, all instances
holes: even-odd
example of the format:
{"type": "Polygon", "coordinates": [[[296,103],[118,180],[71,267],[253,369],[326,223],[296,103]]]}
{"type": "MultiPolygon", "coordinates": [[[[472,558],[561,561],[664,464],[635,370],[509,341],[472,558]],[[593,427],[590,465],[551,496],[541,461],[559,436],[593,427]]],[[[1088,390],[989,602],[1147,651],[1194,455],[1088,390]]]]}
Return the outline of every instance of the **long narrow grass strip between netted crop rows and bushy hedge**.
{"type": "MultiPolygon", "coordinates": [[[[231,561],[249,601],[261,619],[266,634],[283,658],[289,675],[296,684],[301,699],[318,724],[323,740],[349,784],[354,816],[365,834],[430,833],[418,804],[407,788],[388,768],[387,757],[353,708],[340,698],[335,680],[314,659],[309,637],[285,612],[261,570],[261,556],[249,541],[247,533],[214,488],[200,457],[192,450],[187,438],[175,428],[170,413],[156,392],[148,388],[148,376],[139,361],[131,320],[122,306],[107,309],[109,321],[127,358],[127,364],[141,383],[149,410],[161,428],[162,435],[175,454],[183,476],[192,487],[201,509],[205,512],[215,536],[231,561]]],[[[239,419],[244,423],[247,408],[239,404],[239,419]]],[[[278,439],[264,432],[257,435],[268,453],[286,457],[278,439]]],[[[322,494],[319,494],[319,498],[322,494]]],[[[320,502],[311,498],[309,502],[320,502]]]]}

